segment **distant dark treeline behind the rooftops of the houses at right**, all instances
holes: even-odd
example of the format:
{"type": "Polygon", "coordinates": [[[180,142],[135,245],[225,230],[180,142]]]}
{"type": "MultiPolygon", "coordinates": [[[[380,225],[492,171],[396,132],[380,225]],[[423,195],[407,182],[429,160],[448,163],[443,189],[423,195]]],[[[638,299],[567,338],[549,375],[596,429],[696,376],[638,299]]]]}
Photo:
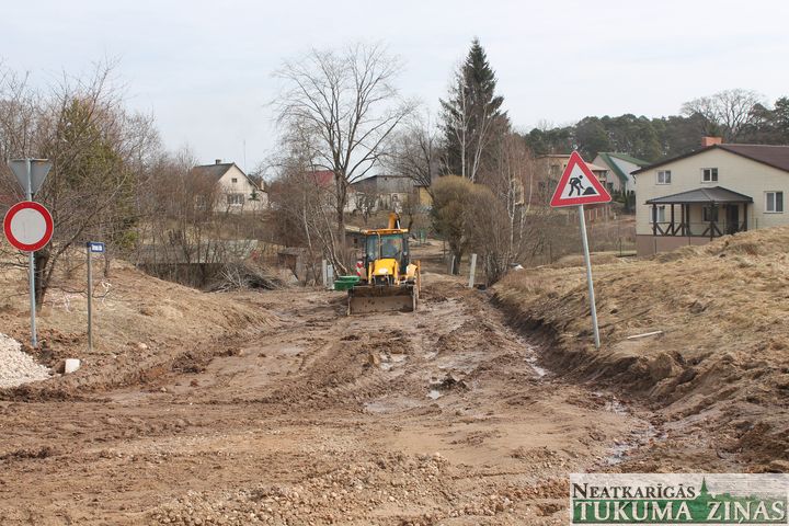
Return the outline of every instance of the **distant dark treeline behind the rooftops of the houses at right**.
{"type": "Polygon", "coordinates": [[[619,151],[653,162],[698,149],[702,136],[725,142],[789,144],[789,98],[778,99],[770,108],[754,91],[725,90],[686,102],[679,115],[587,116],[570,126],[534,128],[524,139],[537,156],[578,149],[592,160],[601,151],[619,151]]]}

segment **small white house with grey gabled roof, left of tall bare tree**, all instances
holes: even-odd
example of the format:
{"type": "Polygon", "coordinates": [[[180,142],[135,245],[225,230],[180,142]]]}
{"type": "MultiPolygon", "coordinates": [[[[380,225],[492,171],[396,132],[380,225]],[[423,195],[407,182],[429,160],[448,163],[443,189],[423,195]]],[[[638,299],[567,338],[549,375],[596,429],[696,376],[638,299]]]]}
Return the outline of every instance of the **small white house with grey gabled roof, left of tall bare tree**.
{"type": "Polygon", "coordinates": [[[247,175],[235,162],[203,164],[192,169],[194,176],[216,181],[220,196],[215,205],[216,211],[259,211],[268,207],[268,194],[262,183],[247,175]]]}

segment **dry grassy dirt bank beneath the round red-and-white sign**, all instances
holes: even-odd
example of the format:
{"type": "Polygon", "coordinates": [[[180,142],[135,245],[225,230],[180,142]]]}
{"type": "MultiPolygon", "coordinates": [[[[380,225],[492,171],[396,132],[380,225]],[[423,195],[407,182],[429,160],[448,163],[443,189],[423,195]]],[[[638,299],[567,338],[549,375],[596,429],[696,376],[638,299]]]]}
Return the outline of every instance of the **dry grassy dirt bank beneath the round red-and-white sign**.
{"type": "Polygon", "coordinates": [[[199,367],[215,355],[232,354],[240,340],[279,323],[243,295],[204,294],[117,261],[110,277],[94,274],[94,346],[89,351],[83,272],[77,268],[69,274],[57,276],[37,316],[36,350],[27,344],[26,278],[21,271],[0,274],[5,293],[0,297],[2,332],[23,342],[25,351],[46,366],[57,368],[65,358],[82,361],[75,374],[0,390],[0,398],[67,399],[145,384],[179,367],[199,367]]]}

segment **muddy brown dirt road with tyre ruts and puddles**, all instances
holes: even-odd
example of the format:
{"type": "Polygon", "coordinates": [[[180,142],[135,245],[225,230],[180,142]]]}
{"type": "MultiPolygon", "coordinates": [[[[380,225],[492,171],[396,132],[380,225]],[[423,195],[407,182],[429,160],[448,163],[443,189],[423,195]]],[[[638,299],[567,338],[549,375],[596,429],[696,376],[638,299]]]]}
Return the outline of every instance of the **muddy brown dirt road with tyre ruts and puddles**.
{"type": "Polygon", "coordinates": [[[567,474],[650,424],[546,374],[484,293],[425,283],[414,315],[250,294],[278,321],[213,359],[1,402],[0,524],[567,523],[567,474]]]}

